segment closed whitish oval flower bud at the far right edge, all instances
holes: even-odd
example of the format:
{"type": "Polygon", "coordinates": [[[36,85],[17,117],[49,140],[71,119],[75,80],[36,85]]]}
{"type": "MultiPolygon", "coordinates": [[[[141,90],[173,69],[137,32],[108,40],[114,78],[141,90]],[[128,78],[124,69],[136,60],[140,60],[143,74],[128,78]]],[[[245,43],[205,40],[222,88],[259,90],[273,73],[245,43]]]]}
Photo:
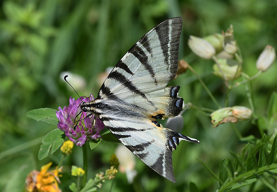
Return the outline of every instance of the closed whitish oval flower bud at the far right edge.
{"type": "Polygon", "coordinates": [[[265,72],[274,62],[276,57],[275,49],[271,45],[267,45],[260,54],[256,66],[259,71],[265,72]]]}

